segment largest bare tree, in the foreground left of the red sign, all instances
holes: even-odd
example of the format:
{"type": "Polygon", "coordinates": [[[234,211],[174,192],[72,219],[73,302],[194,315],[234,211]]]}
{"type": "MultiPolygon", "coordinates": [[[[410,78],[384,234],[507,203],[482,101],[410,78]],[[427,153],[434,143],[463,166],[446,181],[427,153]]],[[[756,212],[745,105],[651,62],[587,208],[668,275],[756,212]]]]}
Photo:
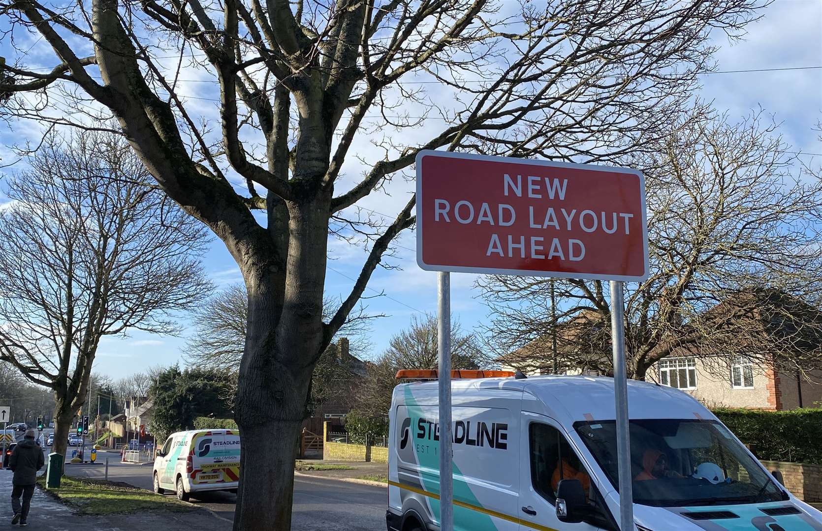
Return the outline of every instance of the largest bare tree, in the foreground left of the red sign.
{"type": "Polygon", "coordinates": [[[290,527],[293,440],[313,365],[414,222],[413,197],[376,227],[349,207],[421,149],[577,162],[641,151],[713,67],[711,31],[741,34],[762,5],[91,0],[88,12],[2,0],[7,34],[35,32],[56,57],[43,73],[19,48],[0,94],[15,94],[3,107],[10,120],[88,126],[113,113],[158,185],[237,261],[249,317],[236,412],[259,459],[242,462],[234,525],[279,531],[290,527]],[[183,64],[219,83],[219,140],[212,117],[178,90],[183,64]],[[362,153],[351,185],[340,177],[363,135],[376,149],[362,153]],[[246,190],[233,186],[237,175],[246,190]],[[329,233],[363,236],[369,249],[325,321],[329,233]]]}

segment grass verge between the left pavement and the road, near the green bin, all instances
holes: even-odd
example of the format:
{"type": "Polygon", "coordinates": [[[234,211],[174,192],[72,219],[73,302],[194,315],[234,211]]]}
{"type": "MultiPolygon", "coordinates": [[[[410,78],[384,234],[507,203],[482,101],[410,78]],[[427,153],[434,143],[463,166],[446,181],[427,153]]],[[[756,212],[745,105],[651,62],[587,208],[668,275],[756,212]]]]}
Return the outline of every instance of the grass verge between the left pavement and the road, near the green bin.
{"type": "MultiPolygon", "coordinates": [[[[37,480],[40,488],[45,488],[45,479],[37,480]]],[[[154,492],[133,488],[125,483],[113,483],[96,479],[63,476],[60,488],[49,489],[49,494],[81,515],[119,515],[146,511],[173,510],[185,512],[196,510],[176,498],[158,496],[154,492]]]]}

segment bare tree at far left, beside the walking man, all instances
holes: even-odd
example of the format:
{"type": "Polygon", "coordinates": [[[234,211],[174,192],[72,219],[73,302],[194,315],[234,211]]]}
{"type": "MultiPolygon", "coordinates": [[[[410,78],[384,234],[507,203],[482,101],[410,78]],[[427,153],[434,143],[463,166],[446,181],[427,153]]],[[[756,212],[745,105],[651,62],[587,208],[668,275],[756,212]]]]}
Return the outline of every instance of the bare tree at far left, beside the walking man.
{"type": "Polygon", "coordinates": [[[65,455],[100,338],[177,332],[210,287],[193,258],[205,235],[117,136],[51,135],[29,163],[0,213],[0,359],[53,391],[65,455]]]}

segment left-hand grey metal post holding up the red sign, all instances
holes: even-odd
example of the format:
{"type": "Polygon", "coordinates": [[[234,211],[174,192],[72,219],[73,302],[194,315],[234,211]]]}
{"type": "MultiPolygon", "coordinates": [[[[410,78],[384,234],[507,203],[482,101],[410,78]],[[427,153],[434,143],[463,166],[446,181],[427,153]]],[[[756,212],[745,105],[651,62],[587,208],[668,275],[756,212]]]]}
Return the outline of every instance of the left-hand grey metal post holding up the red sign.
{"type": "Polygon", "coordinates": [[[440,529],[454,531],[454,474],[451,467],[451,274],[437,273],[437,346],[440,391],[440,529]]]}

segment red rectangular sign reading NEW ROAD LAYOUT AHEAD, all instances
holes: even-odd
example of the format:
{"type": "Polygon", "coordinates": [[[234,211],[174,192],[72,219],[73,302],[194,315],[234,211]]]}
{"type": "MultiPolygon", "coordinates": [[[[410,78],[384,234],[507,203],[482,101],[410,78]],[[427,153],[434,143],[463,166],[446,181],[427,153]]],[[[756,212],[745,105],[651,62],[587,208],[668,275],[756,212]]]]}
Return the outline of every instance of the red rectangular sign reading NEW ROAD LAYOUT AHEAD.
{"type": "Polygon", "coordinates": [[[642,173],[426,150],[417,156],[417,263],[429,271],[639,281],[642,173]]]}

